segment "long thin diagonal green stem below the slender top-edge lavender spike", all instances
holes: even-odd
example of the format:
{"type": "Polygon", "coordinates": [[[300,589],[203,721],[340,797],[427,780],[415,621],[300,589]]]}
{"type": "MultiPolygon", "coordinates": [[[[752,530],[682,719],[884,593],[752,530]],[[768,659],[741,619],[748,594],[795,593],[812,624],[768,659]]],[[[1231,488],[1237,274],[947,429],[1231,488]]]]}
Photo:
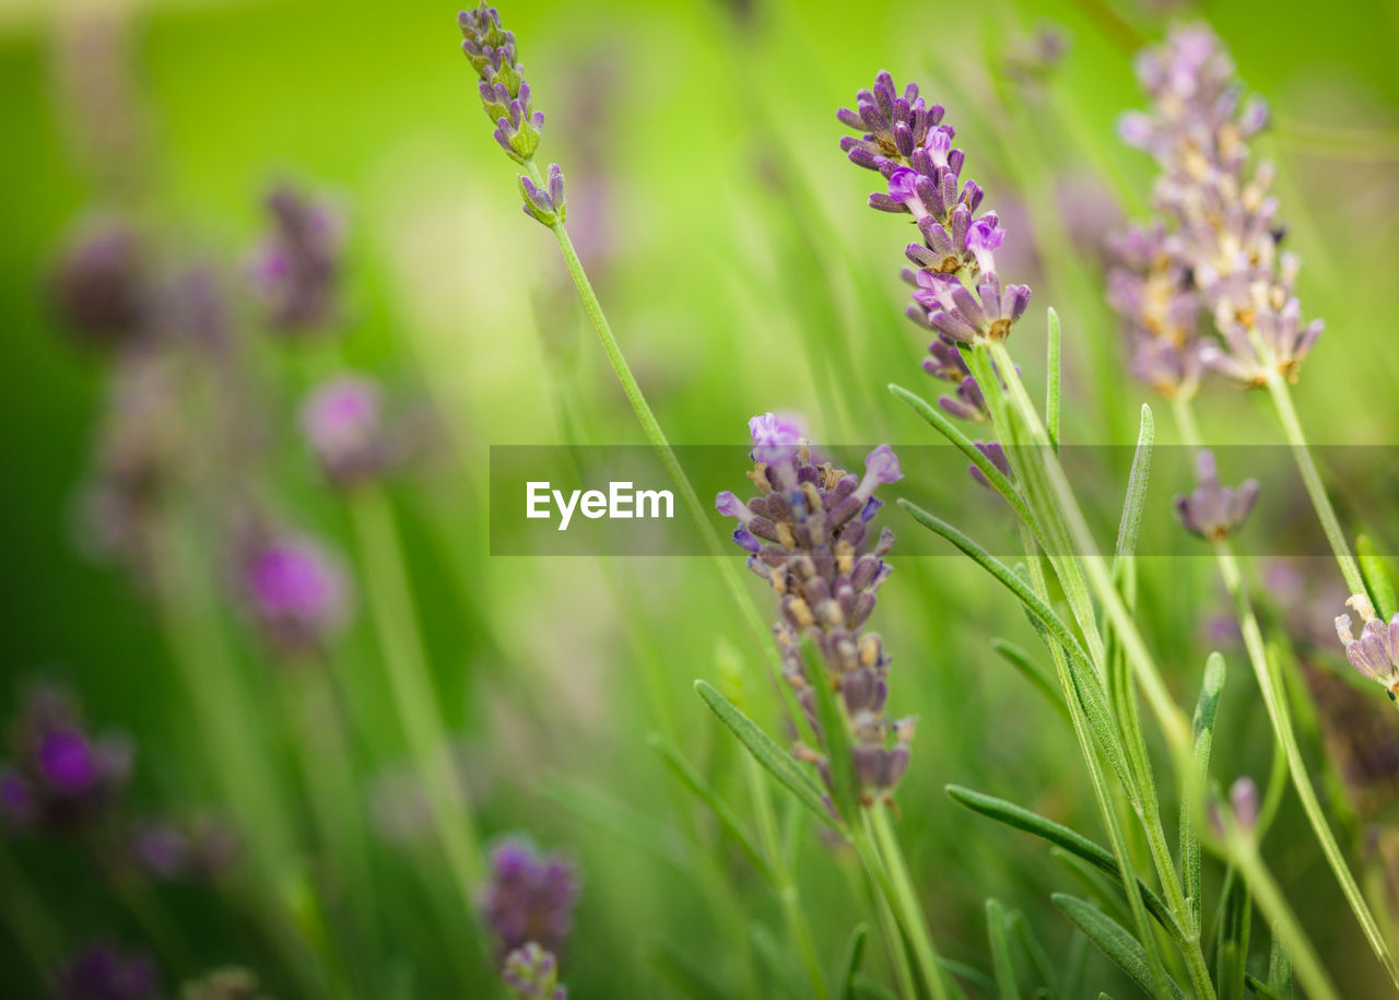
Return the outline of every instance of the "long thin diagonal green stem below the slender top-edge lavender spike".
{"type": "MultiPolygon", "coordinates": [[[[530,179],[536,185],[547,189],[548,185],[540,175],[539,166],[534,165],[533,159],[525,162],[525,169],[529,172],[530,179]]],[[[666,473],[674,483],[676,490],[680,492],[680,502],[684,505],[686,510],[690,512],[695,527],[700,529],[700,537],[704,538],[705,548],[708,548],[709,554],[713,557],[713,562],[719,568],[719,573],[723,578],[725,587],[739,606],[739,611],[743,614],[744,621],[748,622],[748,628],[751,628],[753,634],[757,636],[758,643],[764,650],[768,669],[771,670],[774,680],[781,685],[781,657],[778,656],[776,648],[771,642],[768,627],[764,622],[762,615],[758,614],[753,596],[744,587],[743,580],[739,576],[736,561],[719,541],[719,533],[715,531],[713,524],[709,520],[709,512],[705,509],[704,503],[700,502],[694,484],[690,483],[690,477],[686,474],[684,467],[676,457],[674,449],[670,446],[670,441],[666,438],[665,431],[660,429],[660,422],[656,420],[656,414],[652,413],[651,404],[646,403],[646,397],[641,392],[641,385],[638,385],[637,376],[631,373],[631,366],[627,364],[627,358],[621,352],[617,337],[613,334],[611,324],[607,322],[607,315],[603,312],[602,302],[597,301],[597,294],[593,291],[592,281],[588,280],[583,263],[578,259],[578,250],[574,249],[574,241],[568,236],[567,227],[562,221],[560,221],[550,228],[554,232],[554,238],[558,241],[560,253],[564,255],[564,264],[568,267],[568,273],[574,278],[574,285],[578,288],[578,297],[583,302],[583,309],[588,312],[588,317],[592,320],[593,329],[597,331],[597,338],[602,341],[603,352],[607,354],[607,361],[611,362],[617,380],[621,382],[621,389],[627,396],[627,401],[631,403],[632,413],[637,414],[637,420],[641,422],[642,432],[646,435],[651,446],[656,450],[656,455],[660,457],[660,464],[666,469],[666,473]]]]}

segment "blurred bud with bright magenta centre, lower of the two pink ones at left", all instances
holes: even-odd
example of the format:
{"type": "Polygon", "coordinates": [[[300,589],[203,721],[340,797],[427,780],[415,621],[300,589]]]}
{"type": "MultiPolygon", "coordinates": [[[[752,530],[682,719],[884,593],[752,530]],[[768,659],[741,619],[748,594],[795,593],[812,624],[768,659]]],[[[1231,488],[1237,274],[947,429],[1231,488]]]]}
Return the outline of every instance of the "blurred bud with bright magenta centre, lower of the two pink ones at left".
{"type": "Polygon", "coordinates": [[[242,587],[266,641],[284,652],[318,649],[344,625],[350,589],[344,571],[306,538],[270,537],[249,545],[242,587]]]}

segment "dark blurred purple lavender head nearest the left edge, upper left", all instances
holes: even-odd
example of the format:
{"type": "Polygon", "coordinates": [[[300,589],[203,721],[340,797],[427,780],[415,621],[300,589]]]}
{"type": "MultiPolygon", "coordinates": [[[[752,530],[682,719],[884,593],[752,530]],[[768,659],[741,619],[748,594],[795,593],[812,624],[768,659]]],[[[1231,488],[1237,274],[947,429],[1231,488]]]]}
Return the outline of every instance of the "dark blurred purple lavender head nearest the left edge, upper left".
{"type": "Polygon", "coordinates": [[[150,263],[136,231],[113,218],[88,222],[52,274],[64,326],[92,347],[120,347],[150,331],[150,263]]]}

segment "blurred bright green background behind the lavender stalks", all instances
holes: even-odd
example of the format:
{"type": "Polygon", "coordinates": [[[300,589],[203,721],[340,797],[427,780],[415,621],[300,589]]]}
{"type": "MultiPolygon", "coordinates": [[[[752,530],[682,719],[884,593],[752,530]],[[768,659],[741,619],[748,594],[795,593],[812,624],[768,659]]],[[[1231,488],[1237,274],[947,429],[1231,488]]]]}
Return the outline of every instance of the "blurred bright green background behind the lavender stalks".
{"type": "MultiPolygon", "coordinates": [[[[382,573],[378,583],[365,575],[382,564],[365,551],[362,510],[323,483],[299,436],[301,399],[340,369],[381,379],[390,408],[418,428],[421,448],[388,477],[379,510],[402,543],[453,773],[481,836],[522,831],[578,863],[582,898],[562,959],[571,994],[730,996],[755,976],[764,996],[800,996],[775,944],[771,894],[646,741],[663,733],[747,815],[739,751],[691,684],[741,692],[771,731],[776,699],[718,575],[695,558],[488,554],[490,445],[642,438],[548,232],[520,215],[455,14],[362,0],[0,7],[0,425],[10,428],[0,435],[0,713],[20,710],[34,678],[71,685],[95,729],[136,745],[133,815],[208,811],[255,843],[263,817],[242,811],[220,778],[229,754],[246,754],[255,782],[276,789],[294,842],[276,884],[252,871],[168,884],[113,876],[74,838],[10,838],[0,890],[8,996],[45,996],[53,964],[95,937],[157,955],[166,992],[227,964],[255,969],[283,997],[488,989],[470,916],[413,815],[411,740],[388,705],[376,617],[413,608],[376,607],[382,573]],[[134,166],[113,179],[125,155],[134,166]],[[340,319],[312,338],[259,329],[245,301],[274,183],[327,199],[343,220],[340,319]],[[113,364],[66,333],[50,276],[84,220],[113,208],[158,234],[169,266],[207,262],[238,303],[239,371],[259,387],[253,491],[278,523],[337,552],[353,580],[347,625],[323,662],[288,666],[259,642],[227,593],[227,545],[199,498],[182,501],[180,517],[204,545],[194,572],[208,600],[190,601],[199,607],[183,627],[148,582],[92,544],[83,497],[111,420],[113,364]],[[200,657],[224,666],[203,670],[200,657]],[[372,902],[326,874],[308,832],[312,751],[278,708],[301,690],[288,671],[308,670],[333,676],[343,695],[358,789],[346,822],[368,843],[372,902]],[[214,673],[232,684],[197,695],[214,673]],[[227,709],[220,731],[232,738],[214,738],[200,697],[227,709]],[[354,923],[344,915],[365,908],[368,950],[340,933],[354,923]]],[[[1066,439],[1132,442],[1149,396],[1125,375],[1097,248],[1115,220],[1144,211],[1153,175],[1115,138],[1116,116],[1143,103],[1130,52],[1191,18],[1219,31],[1274,109],[1260,147],[1277,164],[1287,239],[1305,262],[1304,309],[1328,320],[1297,389],[1309,432],[1393,441],[1393,4],[600,0],[505,4],[502,15],[547,115],[541,155],[568,172],[569,225],[618,338],[672,441],[733,445],[734,490],[746,421],[765,410],[803,414],[830,442],[928,442],[884,390],[926,387],[923,338],[901,316],[904,241],[867,211],[869,175],[837,148],[835,109],[879,69],[947,106],[967,173],[1006,221],[1014,264],[1003,270],[1034,287],[1014,345],[1031,386],[1044,378],[1038,317],[1049,303],[1063,317],[1066,439]],[[1044,28],[1067,45],[1051,66],[1035,57],[1044,28]]],[[[180,399],[169,403],[173,421],[204,427],[180,399]]],[[[1269,414],[1233,390],[1212,392],[1202,420],[1216,443],[1277,443],[1269,414]]],[[[242,469],[217,435],[199,446],[208,464],[242,469]]],[[[1237,462],[1230,471],[1247,473],[1237,462]]],[[[895,492],[915,499],[964,476],[951,455],[908,471],[895,492]]],[[[1105,462],[1086,492],[1119,494],[1119,473],[1105,462]]],[[[1158,502],[1184,485],[1156,484],[1158,502]]],[[[884,517],[916,530],[893,506],[884,517]]],[[[1302,573],[1319,580],[1328,565],[1302,573]]],[[[1079,888],[1072,873],[942,792],[970,785],[1097,832],[1072,734],[988,645],[1004,635],[1030,648],[1032,636],[974,568],[951,558],[895,566],[877,627],[895,659],[891,706],[919,717],[898,829],[939,944],[986,968],[982,906],[993,895],[1027,916],[1051,954],[1074,955],[1081,944],[1048,902],[1079,888]]],[[[1143,627],[1179,699],[1193,702],[1217,642],[1210,617],[1224,604],[1210,565],[1163,561],[1143,569],[1143,627]]],[[[1291,592],[1258,586],[1276,599],[1280,625],[1297,624],[1291,592]]],[[[758,600],[767,613],[768,596],[758,600]]],[[[1339,608],[1318,607],[1301,624],[1325,632],[1339,608]]],[[[1312,659],[1305,670],[1343,667],[1335,646],[1312,659]]],[[[1231,678],[1219,731],[1224,776],[1262,779],[1270,741],[1247,670],[1231,678]]],[[[1344,740],[1328,738],[1325,717],[1307,736],[1379,885],[1382,838],[1367,831],[1392,787],[1357,806],[1339,776],[1344,740]]],[[[1280,831],[1269,860],[1347,996],[1368,996],[1365,944],[1291,800],[1280,831]]],[[[795,829],[790,850],[834,964],[866,908],[858,867],[809,828],[795,829]]],[[[877,947],[870,961],[881,968],[877,947]]],[[[1084,961],[1093,994],[1130,989],[1101,958],[1084,961]]]]}

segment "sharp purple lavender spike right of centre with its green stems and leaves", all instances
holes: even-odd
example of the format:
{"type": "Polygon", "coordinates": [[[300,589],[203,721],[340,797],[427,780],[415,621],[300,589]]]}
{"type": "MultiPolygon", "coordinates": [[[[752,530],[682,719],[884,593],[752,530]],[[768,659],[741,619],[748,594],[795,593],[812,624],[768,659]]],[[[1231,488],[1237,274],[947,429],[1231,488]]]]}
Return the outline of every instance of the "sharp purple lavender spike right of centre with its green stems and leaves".
{"type": "MultiPolygon", "coordinates": [[[[1007,585],[1021,594],[1031,613],[1046,627],[1062,629],[1060,634],[1069,636],[1067,627],[1048,607],[1049,589],[1044,562],[1059,578],[1083,642],[1049,642],[1049,652],[1059,670],[1065,702],[1070,709],[1098,808],[1122,873],[1123,891],[1143,943],[1150,979],[1164,989],[1167,975],[1136,876],[1132,874],[1126,836],[1098,759],[1095,738],[1098,744],[1109,747],[1109,757],[1118,755],[1123,761],[1125,769],[1119,769],[1118,778],[1142,817],[1168,903],[1178,915],[1179,926],[1191,929],[1181,944],[1192,985],[1200,996],[1213,996],[1199,929],[1191,917],[1191,901],[1185,898],[1165,841],[1135,710],[1118,723],[1118,731],[1108,731],[1105,720],[1091,715],[1080,697],[1083,687],[1088,685],[1100,690],[1095,698],[1104,699],[1104,703],[1107,701],[1100,678],[1108,676],[1108,655],[1098,631],[1091,586],[1108,613],[1126,660],[1146,688],[1181,775],[1192,773],[1186,759],[1189,737],[1182,713],[1170,698],[1116,582],[1101,565],[1102,561],[1095,558],[1087,523],[1055,457],[1056,436],[1051,436],[1046,427],[1058,428],[1056,399],[1051,399],[1046,420],[1041,421],[1006,348],[1013,326],[1028,305],[1030,290],[1004,283],[996,269],[995,252],[1004,241],[1004,228],[993,211],[981,211],[985,200],[981,186],[975,180],[963,179],[965,154],[951,147],[953,130],[943,122],[943,108],[929,105],[915,85],[900,92],[893,78],[880,73],[870,90],[858,94],[856,110],[842,109],[838,117],[846,127],[862,133],[842,138],[841,148],[853,164],[877,172],[884,182],[883,190],[870,194],[870,207],[912,215],[922,236],[922,242],[905,248],[905,257],[914,264],[904,271],[905,280],[914,285],[914,302],[908,315],[921,327],[935,333],[925,369],[957,386],[957,396],[944,397],[942,408],[958,418],[989,421],[999,441],[990,446],[974,445],[936,408],[907,390],[893,389],[961,448],[972,460],[974,474],[979,473],[982,481],[1010,501],[1021,520],[1030,557],[1030,593],[1007,585]],[[968,385],[968,379],[975,382],[968,385]],[[1020,448],[1010,448],[1011,445],[1020,448]],[[1010,476],[1006,474],[1007,469],[1010,476]]],[[[1052,313],[1051,329],[1056,329],[1052,313]]],[[[999,566],[960,531],[912,505],[905,508],[923,524],[943,533],[978,558],[1003,582],[1009,580],[1010,571],[999,566]]],[[[1191,789],[1192,797],[1199,794],[1203,794],[1202,789],[1191,789]]]]}

